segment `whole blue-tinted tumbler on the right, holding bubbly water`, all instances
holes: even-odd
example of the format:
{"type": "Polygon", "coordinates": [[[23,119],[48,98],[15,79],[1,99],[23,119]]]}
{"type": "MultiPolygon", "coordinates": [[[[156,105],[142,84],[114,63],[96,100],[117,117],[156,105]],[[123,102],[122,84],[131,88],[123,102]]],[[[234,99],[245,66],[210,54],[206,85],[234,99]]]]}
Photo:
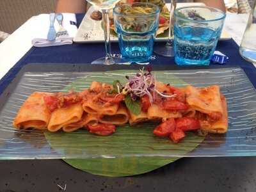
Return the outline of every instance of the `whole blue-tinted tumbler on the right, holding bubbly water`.
{"type": "Polygon", "coordinates": [[[225,13],[208,6],[186,6],[174,12],[177,65],[209,65],[221,35],[225,13]]]}

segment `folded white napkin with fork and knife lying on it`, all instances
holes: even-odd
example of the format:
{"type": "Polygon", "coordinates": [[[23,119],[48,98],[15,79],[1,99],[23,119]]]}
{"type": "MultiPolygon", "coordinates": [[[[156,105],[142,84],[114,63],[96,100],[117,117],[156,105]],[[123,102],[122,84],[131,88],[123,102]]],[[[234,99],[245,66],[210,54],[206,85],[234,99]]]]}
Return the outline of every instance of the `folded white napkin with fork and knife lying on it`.
{"type": "Polygon", "coordinates": [[[33,27],[35,37],[32,40],[32,44],[35,47],[49,47],[73,43],[73,38],[77,33],[76,15],[74,13],[61,13],[61,16],[55,13],[36,16],[40,22],[36,23],[33,27]],[[61,16],[62,20],[60,20],[61,16]],[[58,17],[59,21],[56,20],[56,17],[58,17]],[[67,33],[58,34],[59,31],[65,32],[66,30],[67,33]]]}

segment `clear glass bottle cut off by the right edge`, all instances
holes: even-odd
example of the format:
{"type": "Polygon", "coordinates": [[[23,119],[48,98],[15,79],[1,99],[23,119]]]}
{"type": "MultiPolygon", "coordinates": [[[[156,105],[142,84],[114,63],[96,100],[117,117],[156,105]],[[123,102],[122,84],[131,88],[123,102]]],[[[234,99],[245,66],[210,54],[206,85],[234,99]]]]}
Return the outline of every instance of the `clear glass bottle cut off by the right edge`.
{"type": "Polygon", "coordinates": [[[245,60],[256,63],[256,1],[254,1],[239,52],[245,60]]]}

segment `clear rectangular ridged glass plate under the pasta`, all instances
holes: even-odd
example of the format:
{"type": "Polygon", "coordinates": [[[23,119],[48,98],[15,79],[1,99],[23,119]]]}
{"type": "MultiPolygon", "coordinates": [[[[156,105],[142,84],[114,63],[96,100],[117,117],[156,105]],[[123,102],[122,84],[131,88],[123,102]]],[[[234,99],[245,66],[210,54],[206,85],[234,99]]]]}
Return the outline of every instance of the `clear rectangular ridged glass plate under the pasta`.
{"type": "MultiPolygon", "coordinates": [[[[228,104],[228,132],[227,134],[209,134],[195,150],[186,152],[175,150],[175,145],[170,142],[168,149],[160,149],[159,143],[167,142],[164,138],[159,140],[157,147],[146,146],[147,152],[143,150],[143,140],[140,134],[134,132],[131,141],[126,137],[118,141],[120,150],[113,149],[108,145],[110,137],[99,137],[99,142],[83,140],[83,134],[87,131],[73,133],[57,132],[51,138],[49,145],[42,131],[16,131],[12,122],[20,106],[33,92],[62,92],[70,88],[83,90],[88,88],[91,81],[103,81],[112,83],[115,79],[124,81],[125,75],[133,74],[136,70],[115,70],[112,72],[26,72],[21,77],[15,90],[8,98],[0,112],[0,159],[59,159],[59,158],[88,158],[88,157],[125,157],[125,156],[161,156],[161,157],[211,157],[211,156],[255,156],[256,155],[256,92],[252,83],[241,68],[221,68],[205,70],[166,70],[154,71],[158,81],[171,83],[175,86],[209,86],[218,84],[221,93],[227,98],[228,104]],[[65,135],[64,135],[65,134],[65,135]],[[95,146],[99,150],[88,150],[87,147],[72,145],[69,136],[76,134],[81,143],[88,148],[95,146]],[[106,139],[108,138],[108,139],[106,139]],[[129,144],[136,143],[135,150],[124,154],[129,144]],[[87,142],[87,143],[86,143],[87,142]],[[92,142],[92,145],[89,145],[92,142]],[[77,146],[77,147],[76,147],[77,146]],[[140,149],[141,148],[141,152],[140,149]],[[152,148],[152,151],[148,150],[152,148]],[[123,150],[125,149],[125,150],[123,150]],[[90,152],[88,152],[90,151],[90,152]]],[[[140,126],[147,126],[143,124],[140,126]]],[[[140,127],[138,127],[138,130],[140,127]]],[[[121,132],[124,130],[120,128],[121,132]]],[[[145,133],[146,134],[146,133],[145,133]]],[[[90,134],[95,137],[93,134],[90,134]]],[[[118,136],[118,129],[113,134],[113,141],[118,136]]],[[[152,132],[147,132],[148,137],[154,137],[152,132]]],[[[168,141],[169,142],[169,141],[168,141]]],[[[193,139],[186,145],[193,144],[193,139]]],[[[74,144],[74,143],[73,143],[74,144]]],[[[166,143],[165,143],[166,144],[166,143]]],[[[154,143],[152,144],[154,145],[154,143]]],[[[182,145],[182,143],[180,144],[182,145]]],[[[134,146],[133,146],[134,147],[134,146]]]]}

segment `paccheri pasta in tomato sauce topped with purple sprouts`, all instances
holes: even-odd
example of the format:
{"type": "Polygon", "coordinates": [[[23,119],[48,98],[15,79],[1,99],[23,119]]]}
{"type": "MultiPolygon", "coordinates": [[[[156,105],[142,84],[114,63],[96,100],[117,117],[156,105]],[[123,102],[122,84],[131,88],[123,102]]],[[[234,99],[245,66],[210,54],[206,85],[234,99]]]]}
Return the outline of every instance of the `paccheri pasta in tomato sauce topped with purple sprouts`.
{"type": "Polygon", "coordinates": [[[227,102],[218,85],[184,88],[157,82],[150,71],[140,70],[122,86],[94,81],[83,92],[32,93],[22,104],[16,129],[56,132],[88,129],[93,134],[113,134],[116,125],[160,123],[154,134],[177,143],[187,131],[225,133],[227,102]]]}

